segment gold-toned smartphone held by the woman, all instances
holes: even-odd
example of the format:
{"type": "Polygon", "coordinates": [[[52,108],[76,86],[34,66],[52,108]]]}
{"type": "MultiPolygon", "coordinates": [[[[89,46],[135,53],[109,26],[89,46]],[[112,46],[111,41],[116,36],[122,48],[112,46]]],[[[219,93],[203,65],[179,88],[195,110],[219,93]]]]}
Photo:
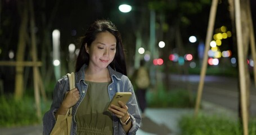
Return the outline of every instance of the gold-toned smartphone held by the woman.
{"type": "Polygon", "coordinates": [[[111,105],[119,106],[118,101],[122,101],[124,104],[126,104],[126,102],[129,100],[131,96],[132,96],[132,92],[116,92],[115,96],[112,98],[109,104],[109,107],[111,105]]]}

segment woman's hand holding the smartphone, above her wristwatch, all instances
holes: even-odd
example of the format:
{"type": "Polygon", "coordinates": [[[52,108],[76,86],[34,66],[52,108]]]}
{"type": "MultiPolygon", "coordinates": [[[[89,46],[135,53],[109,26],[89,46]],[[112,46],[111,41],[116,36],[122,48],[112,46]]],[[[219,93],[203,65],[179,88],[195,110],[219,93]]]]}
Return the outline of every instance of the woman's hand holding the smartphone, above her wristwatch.
{"type": "Polygon", "coordinates": [[[122,102],[118,101],[119,106],[111,105],[109,111],[114,113],[122,122],[125,122],[129,118],[128,107],[122,102]]]}

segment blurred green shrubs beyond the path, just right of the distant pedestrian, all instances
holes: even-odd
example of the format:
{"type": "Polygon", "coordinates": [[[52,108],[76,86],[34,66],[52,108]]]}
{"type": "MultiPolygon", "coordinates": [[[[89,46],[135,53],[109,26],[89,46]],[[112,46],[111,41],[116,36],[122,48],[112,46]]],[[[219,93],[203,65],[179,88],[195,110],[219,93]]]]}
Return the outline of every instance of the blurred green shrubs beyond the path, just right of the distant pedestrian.
{"type": "Polygon", "coordinates": [[[149,107],[194,107],[195,96],[184,89],[165,91],[163,84],[158,85],[158,90],[147,92],[149,107]]]}

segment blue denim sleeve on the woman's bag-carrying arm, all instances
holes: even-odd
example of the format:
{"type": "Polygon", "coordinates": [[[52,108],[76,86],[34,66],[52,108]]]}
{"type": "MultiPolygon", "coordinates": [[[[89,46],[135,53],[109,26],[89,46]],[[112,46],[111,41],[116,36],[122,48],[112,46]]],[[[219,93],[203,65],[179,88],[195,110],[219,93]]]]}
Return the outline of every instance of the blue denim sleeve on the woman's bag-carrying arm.
{"type": "Polygon", "coordinates": [[[68,78],[64,76],[56,83],[56,86],[53,90],[51,108],[43,116],[43,135],[50,134],[55,125],[55,112],[59,109],[65,96],[65,92],[68,91],[69,88],[69,83],[67,82],[68,78]]]}

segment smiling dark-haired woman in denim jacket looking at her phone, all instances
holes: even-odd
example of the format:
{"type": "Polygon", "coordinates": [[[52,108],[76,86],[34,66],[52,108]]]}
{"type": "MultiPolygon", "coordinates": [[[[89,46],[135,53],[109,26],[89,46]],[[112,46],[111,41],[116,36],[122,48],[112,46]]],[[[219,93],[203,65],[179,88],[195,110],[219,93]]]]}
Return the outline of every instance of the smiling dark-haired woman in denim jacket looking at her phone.
{"type": "Polygon", "coordinates": [[[95,21],[82,38],[75,66],[75,87],[68,92],[66,76],[56,84],[51,109],[43,117],[43,134],[50,134],[57,115],[73,107],[71,134],[136,134],[141,116],[127,77],[122,39],[108,20],[95,21]],[[116,92],[132,92],[125,105],[107,108],[116,92]]]}

